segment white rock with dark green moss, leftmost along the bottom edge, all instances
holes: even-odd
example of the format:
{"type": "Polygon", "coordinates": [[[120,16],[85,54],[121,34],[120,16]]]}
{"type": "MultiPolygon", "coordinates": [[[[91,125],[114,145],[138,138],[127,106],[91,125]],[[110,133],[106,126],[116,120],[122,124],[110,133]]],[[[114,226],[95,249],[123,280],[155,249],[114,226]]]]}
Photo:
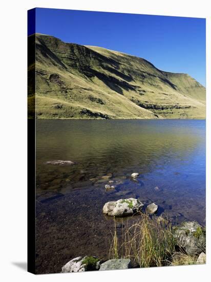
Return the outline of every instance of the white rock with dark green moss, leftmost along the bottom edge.
{"type": "Polygon", "coordinates": [[[100,259],[95,256],[78,256],[61,268],[62,273],[99,270],[100,259]]]}

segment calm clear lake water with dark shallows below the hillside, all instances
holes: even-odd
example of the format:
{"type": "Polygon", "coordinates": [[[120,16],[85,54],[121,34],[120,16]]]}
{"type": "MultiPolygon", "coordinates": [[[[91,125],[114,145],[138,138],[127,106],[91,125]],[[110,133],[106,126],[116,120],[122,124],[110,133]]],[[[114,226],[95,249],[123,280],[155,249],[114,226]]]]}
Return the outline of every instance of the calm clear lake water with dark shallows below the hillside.
{"type": "Polygon", "coordinates": [[[108,258],[114,223],[102,207],[129,197],[155,202],[173,224],[205,225],[205,120],[36,120],[38,273],[108,258]],[[46,164],[58,159],[75,164],[46,164]]]}

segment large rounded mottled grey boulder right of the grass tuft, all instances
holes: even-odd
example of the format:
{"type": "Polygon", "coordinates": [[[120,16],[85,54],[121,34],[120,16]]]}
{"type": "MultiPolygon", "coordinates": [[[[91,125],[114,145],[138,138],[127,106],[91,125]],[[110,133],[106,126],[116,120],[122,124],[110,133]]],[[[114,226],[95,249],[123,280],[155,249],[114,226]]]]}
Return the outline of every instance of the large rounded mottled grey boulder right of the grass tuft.
{"type": "Polygon", "coordinates": [[[188,255],[200,254],[205,250],[205,230],[196,221],[186,221],[174,228],[177,244],[188,255]]]}

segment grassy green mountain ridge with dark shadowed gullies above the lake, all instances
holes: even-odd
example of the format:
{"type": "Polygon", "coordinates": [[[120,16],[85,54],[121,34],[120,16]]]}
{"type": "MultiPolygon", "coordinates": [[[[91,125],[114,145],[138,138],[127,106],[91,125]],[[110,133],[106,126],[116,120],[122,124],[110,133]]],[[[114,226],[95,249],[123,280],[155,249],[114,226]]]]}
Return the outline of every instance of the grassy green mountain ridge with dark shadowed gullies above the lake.
{"type": "Polygon", "coordinates": [[[188,74],[157,69],[143,58],[50,35],[29,55],[29,115],[36,118],[205,118],[205,88],[188,74]],[[36,74],[36,98],[30,85],[36,74]]]}

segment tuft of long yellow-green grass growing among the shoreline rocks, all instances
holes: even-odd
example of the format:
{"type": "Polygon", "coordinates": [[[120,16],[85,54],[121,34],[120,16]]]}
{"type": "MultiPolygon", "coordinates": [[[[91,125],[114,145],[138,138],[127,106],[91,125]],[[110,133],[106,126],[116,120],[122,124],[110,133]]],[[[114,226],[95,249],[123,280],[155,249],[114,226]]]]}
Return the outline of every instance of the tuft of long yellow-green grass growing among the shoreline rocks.
{"type": "MultiPolygon", "coordinates": [[[[115,219],[114,219],[115,220],[115,219]]],[[[122,243],[116,232],[116,223],[110,255],[113,258],[130,258],[139,267],[166,266],[171,264],[175,253],[176,239],[173,236],[172,225],[169,221],[159,220],[140,214],[140,218],[132,225],[122,229],[122,243]]]]}

